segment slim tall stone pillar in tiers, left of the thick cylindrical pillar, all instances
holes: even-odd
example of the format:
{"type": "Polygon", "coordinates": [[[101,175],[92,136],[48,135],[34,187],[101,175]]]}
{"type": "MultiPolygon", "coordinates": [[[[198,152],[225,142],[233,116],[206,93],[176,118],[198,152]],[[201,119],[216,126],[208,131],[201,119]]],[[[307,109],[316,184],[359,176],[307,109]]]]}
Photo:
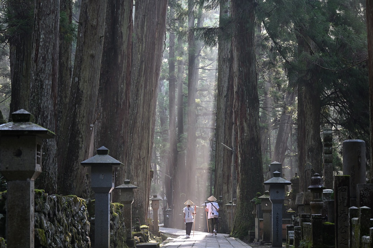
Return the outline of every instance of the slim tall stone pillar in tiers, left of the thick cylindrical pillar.
{"type": "Polygon", "coordinates": [[[323,130],[323,162],[324,162],[324,172],[323,180],[324,186],[327,189],[333,189],[333,135],[331,129],[323,130]]]}

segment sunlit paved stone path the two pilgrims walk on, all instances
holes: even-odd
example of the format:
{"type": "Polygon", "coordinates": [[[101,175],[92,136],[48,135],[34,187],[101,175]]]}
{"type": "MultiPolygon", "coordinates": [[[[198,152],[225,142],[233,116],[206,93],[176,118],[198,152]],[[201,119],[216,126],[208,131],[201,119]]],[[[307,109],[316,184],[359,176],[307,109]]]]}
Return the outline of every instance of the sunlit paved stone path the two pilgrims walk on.
{"type": "Polygon", "coordinates": [[[207,232],[194,232],[188,238],[185,230],[173,228],[159,228],[160,232],[177,235],[177,238],[167,238],[161,243],[164,248],[252,248],[237,238],[229,238],[228,234],[218,233],[211,236],[207,232]]]}

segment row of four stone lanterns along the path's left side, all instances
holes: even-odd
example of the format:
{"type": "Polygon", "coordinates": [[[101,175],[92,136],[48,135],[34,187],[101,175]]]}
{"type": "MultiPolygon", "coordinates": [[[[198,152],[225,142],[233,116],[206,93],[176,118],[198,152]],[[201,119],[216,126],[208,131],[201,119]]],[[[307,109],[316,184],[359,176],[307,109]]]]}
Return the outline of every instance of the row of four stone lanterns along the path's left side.
{"type": "MultiPolygon", "coordinates": [[[[12,113],[12,122],[0,125],[0,172],[7,179],[6,240],[9,248],[34,248],[34,181],[41,174],[42,142],[55,134],[33,123],[34,116],[21,109],[12,113]]],[[[102,146],[97,155],[81,162],[91,167],[91,188],[95,192],[95,244],[96,248],[110,247],[110,193],[114,188],[114,168],[123,163],[109,156],[109,149],[102,146]]],[[[134,190],[138,189],[127,179],[117,187],[120,202],[130,214],[123,214],[127,241],[132,239],[132,206],[134,190]]],[[[159,209],[156,195],[151,198],[154,210],[159,209]]],[[[158,230],[158,215],[154,214],[154,231],[158,230]]]]}

